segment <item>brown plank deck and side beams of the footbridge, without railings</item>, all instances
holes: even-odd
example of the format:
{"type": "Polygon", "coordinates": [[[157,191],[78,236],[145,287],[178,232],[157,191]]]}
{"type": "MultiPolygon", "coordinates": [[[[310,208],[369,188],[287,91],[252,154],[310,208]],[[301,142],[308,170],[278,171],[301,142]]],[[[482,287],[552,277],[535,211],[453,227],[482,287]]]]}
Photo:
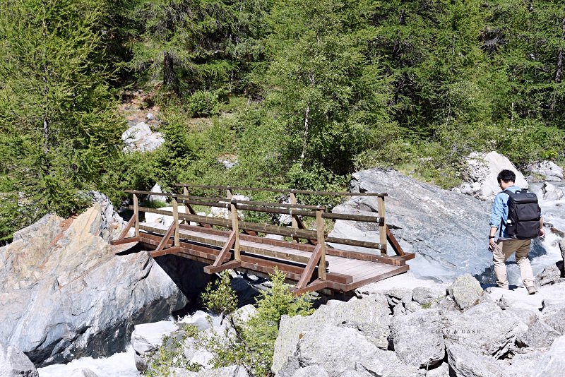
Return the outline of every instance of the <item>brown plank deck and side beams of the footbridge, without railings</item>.
{"type": "MultiPolygon", "coordinates": [[[[162,251],[153,251],[152,256],[175,254],[184,258],[212,264],[230,237],[230,232],[217,229],[207,229],[190,225],[181,225],[179,247],[169,247],[162,251]]],[[[154,250],[160,243],[167,229],[145,227],[141,225],[140,241],[146,249],[154,250]]],[[[289,241],[279,241],[240,235],[240,249],[242,252],[242,267],[237,269],[249,270],[251,273],[272,273],[275,267],[287,273],[289,280],[299,280],[307,261],[314,253],[315,246],[297,244],[289,241]]],[[[172,245],[173,239],[167,244],[172,245]]],[[[316,274],[311,279],[312,289],[303,289],[304,292],[314,288],[331,289],[333,291],[348,292],[370,282],[386,279],[408,271],[408,265],[403,258],[396,256],[376,256],[372,254],[355,253],[340,249],[328,248],[326,253],[326,279],[316,282],[316,274]],[[364,258],[367,260],[362,260],[364,258]],[[386,263],[379,262],[386,261],[386,263]],[[394,263],[394,264],[393,264],[394,263]]],[[[228,256],[231,258],[232,255],[228,256]]],[[[316,268],[317,270],[317,268],[316,268]]]]}

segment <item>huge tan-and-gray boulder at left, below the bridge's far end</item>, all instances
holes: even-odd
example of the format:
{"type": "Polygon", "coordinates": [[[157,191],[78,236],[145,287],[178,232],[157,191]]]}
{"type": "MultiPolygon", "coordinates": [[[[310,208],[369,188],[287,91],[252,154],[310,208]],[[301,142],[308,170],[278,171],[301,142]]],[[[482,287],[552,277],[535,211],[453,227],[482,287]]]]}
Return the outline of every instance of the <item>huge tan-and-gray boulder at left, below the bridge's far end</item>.
{"type": "Polygon", "coordinates": [[[41,366],[123,350],[133,325],[186,304],[147,252],[114,255],[100,205],[75,219],[46,215],[0,248],[0,342],[41,366]]]}

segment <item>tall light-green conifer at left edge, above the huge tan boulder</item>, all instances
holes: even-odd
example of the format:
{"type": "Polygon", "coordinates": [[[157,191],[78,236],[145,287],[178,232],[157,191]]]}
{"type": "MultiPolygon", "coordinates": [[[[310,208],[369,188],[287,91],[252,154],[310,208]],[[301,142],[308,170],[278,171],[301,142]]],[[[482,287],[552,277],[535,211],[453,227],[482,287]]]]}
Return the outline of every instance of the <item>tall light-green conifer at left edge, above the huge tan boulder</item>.
{"type": "Polygon", "coordinates": [[[68,216],[121,151],[100,0],[15,0],[0,9],[1,232],[68,216]]]}

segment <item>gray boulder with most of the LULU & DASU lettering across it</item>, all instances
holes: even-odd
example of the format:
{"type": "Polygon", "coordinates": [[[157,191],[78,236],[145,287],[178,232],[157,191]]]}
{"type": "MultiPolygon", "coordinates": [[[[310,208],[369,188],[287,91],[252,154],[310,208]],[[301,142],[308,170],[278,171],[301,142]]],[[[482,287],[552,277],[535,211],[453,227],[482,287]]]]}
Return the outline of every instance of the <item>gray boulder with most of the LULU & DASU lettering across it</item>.
{"type": "Polygon", "coordinates": [[[512,349],[528,327],[494,302],[484,302],[463,313],[444,313],[444,342],[477,354],[500,358],[512,349]],[[494,321],[496,318],[496,321],[494,321]]]}

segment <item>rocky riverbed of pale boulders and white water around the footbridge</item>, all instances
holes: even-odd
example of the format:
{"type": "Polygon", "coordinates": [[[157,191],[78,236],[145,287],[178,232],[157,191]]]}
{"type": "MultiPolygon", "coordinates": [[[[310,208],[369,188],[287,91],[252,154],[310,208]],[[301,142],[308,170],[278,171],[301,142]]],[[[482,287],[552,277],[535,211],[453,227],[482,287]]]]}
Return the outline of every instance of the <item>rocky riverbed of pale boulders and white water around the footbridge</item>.
{"type": "MultiPolygon", "coordinates": [[[[559,179],[560,172],[548,166],[547,174],[559,179]]],[[[484,173],[484,166],[479,170],[484,173]]],[[[477,182],[484,186],[487,180],[477,182]]],[[[494,192],[473,191],[477,182],[463,193],[398,172],[354,174],[352,191],[388,193],[387,224],[417,257],[410,273],[357,289],[349,301],[331,300],[311,316],[283,318],[273,373],[561,376],[563,181],[530,182],[547,226],[547,237],[535,242],[531,255],[540,287],[533,296],[525,294],[512,261],[512,289],[489,286],[494,275],[485,234],[491,204],[477,196],[494,192]]],[[[115,254],[119,250],[107,241],[119,234],[123,221],[104,196],[93,197],[97,203],[83,215],[67,220],[47,215],[0,249],[6,266],[0,272],[0,376],[136,376],[162,335],[174,335],[186,323],[198,323],[201,331],[222,329],[202,312],[182,321],[171,317],[190,307],[206,285],[202,266],[165,257],[154,261],[145,252],[115,254]],[[141,325],[162,320],[168,322],[141,325]]],[[[353,198],[335,211],[366,214],[376,208],[370,199],[353,198]]],[[[376,239],[376,229],[362,224],[347,228],[338,221],[334,232],[376,239]]],[[[244,292],[241,306],[252,301],[242,277],[233,283],[244,292]]],[[[253,312],[249,306],[240,310],[246,318],[253,312]]],[[[177,376],[246,376],[237,366],[213,369],[210,353],[196,349],[190,337],[182,347],[186,362],[200,365],[201,372],[175,370],[177,376]]]]}

